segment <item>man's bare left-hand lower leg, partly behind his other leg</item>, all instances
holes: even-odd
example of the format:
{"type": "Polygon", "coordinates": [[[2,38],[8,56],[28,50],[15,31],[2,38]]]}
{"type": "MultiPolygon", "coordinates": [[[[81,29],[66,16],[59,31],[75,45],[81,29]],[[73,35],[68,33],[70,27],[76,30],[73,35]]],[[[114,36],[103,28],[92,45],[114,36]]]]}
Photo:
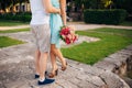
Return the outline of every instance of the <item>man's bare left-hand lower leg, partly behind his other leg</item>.
{"type": "Polygon", "coordinates": [[[41,53],[38,50],[35,51],[35,73],[40,75],[40,56],[41,53]]]}

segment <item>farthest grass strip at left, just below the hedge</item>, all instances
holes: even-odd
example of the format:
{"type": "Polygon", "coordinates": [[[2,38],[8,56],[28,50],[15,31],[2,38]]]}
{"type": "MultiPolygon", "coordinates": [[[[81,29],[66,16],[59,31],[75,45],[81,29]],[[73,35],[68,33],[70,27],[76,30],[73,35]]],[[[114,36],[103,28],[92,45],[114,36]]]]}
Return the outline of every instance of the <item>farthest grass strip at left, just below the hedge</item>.
{"type": "Polygon", "coordinates": [[[14,25],[23,25],[23,24],[29,24],[29,23],[19,22],[19,21],[0,21],[0,26],[14,26],[14,25]]]}

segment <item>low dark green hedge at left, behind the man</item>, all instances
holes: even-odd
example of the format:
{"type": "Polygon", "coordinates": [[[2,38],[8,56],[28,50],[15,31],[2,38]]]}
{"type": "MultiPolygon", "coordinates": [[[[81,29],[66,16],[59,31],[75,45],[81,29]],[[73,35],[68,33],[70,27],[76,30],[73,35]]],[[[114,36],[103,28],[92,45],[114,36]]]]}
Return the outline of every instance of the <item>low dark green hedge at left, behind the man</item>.
{"type": "Polygon", "coordinates": [[[22,21],[30,22],[31,13],[4,13],[0,14],[0,20],[13,20],[13,21],[22,21]]]}

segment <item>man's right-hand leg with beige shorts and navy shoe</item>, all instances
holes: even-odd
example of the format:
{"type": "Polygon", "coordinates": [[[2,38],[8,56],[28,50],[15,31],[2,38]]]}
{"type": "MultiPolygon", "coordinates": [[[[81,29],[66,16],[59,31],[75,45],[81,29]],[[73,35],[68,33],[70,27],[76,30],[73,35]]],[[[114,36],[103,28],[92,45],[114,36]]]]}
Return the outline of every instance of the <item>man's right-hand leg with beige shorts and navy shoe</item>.
{"type": "Polygon", "coordinates": [[[48,25],[40,25],[37,30],[37,45],[41,52],[40,56],[40,80],[38,85],[46,85],[54,82],[54,79],[47,79],[45,77],[47,56],[50,52],[50,38],[51,32],[48,25]]]}

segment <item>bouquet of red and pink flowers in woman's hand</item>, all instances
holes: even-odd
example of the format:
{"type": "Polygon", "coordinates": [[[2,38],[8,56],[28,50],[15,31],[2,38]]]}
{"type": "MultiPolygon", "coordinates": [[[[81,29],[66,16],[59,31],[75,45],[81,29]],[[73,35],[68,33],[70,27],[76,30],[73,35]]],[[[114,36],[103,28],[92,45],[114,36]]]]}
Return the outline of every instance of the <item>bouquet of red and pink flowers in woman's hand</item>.
{"type": "Polygon", "coordinates": [[[59,35],[61,35],[61,38],[66,44],[75,43],[75,41],[78,40],[78,35],[75,34],[75,28],[72,25],[70,26],[62,26],[59,35]]]}

